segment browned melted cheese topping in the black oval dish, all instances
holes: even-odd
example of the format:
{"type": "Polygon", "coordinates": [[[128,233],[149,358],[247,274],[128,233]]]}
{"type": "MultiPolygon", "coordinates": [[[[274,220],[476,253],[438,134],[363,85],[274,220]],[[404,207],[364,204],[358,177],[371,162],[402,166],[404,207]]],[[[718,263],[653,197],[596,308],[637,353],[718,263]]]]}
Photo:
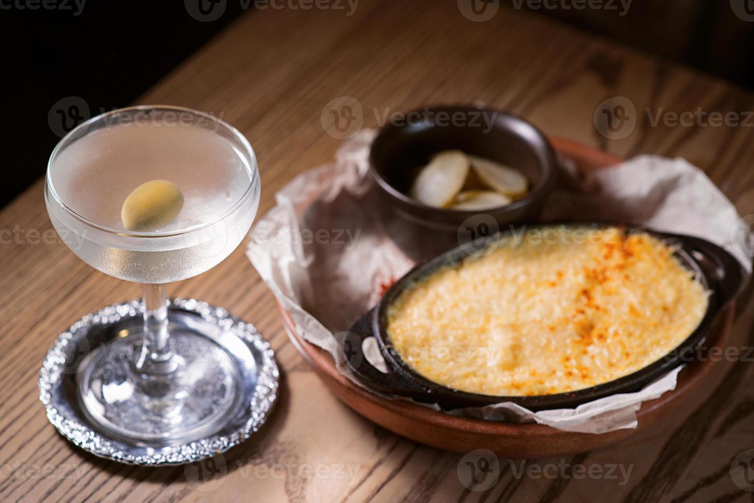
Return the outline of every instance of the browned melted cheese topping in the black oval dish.
{"type": "Polygon", "coordinates": [[[440,268],[388,308],[394,348],[441,385],[554,394],[626,376],[699,324],[707,293],[673,249],[618,228],[539,228],[440,268]]]}

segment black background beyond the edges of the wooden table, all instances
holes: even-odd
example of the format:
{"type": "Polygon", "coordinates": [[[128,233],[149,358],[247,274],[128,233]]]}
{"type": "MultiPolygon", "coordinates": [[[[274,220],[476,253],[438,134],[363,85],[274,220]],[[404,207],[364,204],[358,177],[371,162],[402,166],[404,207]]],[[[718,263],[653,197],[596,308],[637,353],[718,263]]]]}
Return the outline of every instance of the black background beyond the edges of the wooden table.
{"type": "MultiPolygon", "coordinates": [[[[186,6],[194,0],[143,5],[87,0],[78,15],[72,0],[66,0],[67,10],[19,8],[30,1],[34,0],[0,0],[0,103],[5,118],[0,126],[0,207],[44,174],[50,152],[65,130],[81,118],[133,103],[244,14],[238,0],[214,0],[227,2],[225,11],[208,22],[189,15],[186,6]]],[[[204,8],[212,5],[208,0],[198,2],[205,2],[204,8]]],[[[633,0],[623,17],[589,9],[534,12],[754,90],[754,22],[734,14],[731,3],[736,2],[633,0]]],[[[502,3],[514,5],[511,0],[502,3]]],[[[615,5],[620,8],[619,0],[615,5]]],[[[740,6],[754,14],[754,0],[740,0],[740,6]]],[[[253,5],[248,10],[252,12],[247,15],[255,15],[253,5]]]]}

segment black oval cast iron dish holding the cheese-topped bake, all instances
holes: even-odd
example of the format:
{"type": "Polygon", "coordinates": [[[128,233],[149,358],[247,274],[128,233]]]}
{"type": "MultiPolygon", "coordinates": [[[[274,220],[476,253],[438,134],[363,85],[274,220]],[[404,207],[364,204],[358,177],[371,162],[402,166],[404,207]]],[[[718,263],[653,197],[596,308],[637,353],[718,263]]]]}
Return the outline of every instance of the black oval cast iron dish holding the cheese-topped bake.
{"type": "MultiPolygon", "coordinates": [[[[429,262],[418,265],[400,278],[385,293],[382,300],[372,310],[363,315],[349,331],[343,336],[340,345],[345,355],[348,367],[358,379],[370,388],[384,394],[393,394],[400,397],[410,397],[425,403],[438,403],[443,409],[456,409],[460,407],[485,406],[490,403],[513,402],[527,409],[537,411],[544,409],[573,408],[598,398],[607,397],[611,394],[630,393],[639,391],[654,379],[663,376],[675,367],[694,358],[695,349],[701,345],[710,334],[713,321],[717,315],[731,302],[743,287],[743,269],[737,259],[730,253],[715,244],[700,238],[685,235],[673,235],[664,232],[655,232],[648,228],[636,225],[618,225],[610,223],[556,223],[524,225],[512,228],[520,232],[526,229],[565,226],[566,228],[605,228],[616,226],[624,228],[626,232],[646,232],[660,238],[671,246],[678,247],[676,258],[686,268],[694,271],[703,286],[710,291],[709,305],[706,314],[696,330],[689,335],[674,351],[670,351],[665,357],[655,361],[635,373],[596,385],[567,393],[547,394],[538,396],[520,397],[496,397],[485,394],[467,393],[458,391],[447,386],[431,382],[412,370],[406,362],[397,354],[388,338],[385,330],[385,321],[388,306],[400,295],[406,287],[422,278],[431,275],[438,268],[445,265],[453,265],[469,257],[470,251],[480,250],[486,244],[494,243],[500,236],[486,238],[487,241],[477,240],[473,244],[466,244],[454,248],[429,262]],[[472,248],[470,248],[472,247],[472,248]],[[366,337],[375,336],[388,373],[382,373],[372,367],[362,352],[362,342],[366,337]]],[[[509,234],[510,231],[501,233],[509,234]]]]}

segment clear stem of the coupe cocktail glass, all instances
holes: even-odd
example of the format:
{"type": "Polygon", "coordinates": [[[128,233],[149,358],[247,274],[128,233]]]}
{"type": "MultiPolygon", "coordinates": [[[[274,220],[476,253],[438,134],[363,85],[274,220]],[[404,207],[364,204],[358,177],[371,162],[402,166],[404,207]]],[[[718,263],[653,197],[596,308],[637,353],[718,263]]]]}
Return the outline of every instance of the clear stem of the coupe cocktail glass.
{"type": "Polygon", "coordinates": [[[176,370],[167,332],[167,285],[143,284],[144,338],[136,360],[140,373],[161,375],[176,370]]]}

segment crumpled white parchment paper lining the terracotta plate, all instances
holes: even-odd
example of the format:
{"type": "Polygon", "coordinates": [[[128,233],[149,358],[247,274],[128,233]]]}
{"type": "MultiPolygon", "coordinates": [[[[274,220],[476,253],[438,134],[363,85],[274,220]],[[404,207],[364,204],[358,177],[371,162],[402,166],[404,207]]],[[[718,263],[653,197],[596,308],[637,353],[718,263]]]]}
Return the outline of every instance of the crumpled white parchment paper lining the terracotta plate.
{"type": "MultiPolygon", "coordinates": [[[[369,190],[368,155],[374,136],[373,130],[363,131],[343,144],[333,164],[308,170],[280,190],[275,207],[254,226],[247,249],[298,333],[329,351],[336,361],[342,358],[333,334],[348,330],[389,284],[414,265],[395,244],[400,228],[391,227],[394,217],[369,190]]],[[[599,216],[697,235],[726,247],[751,271],[751,257],[745,253],[747,236],[731,232],[740,222],[733,204],[701,170],[683,159],[643,155],[586,176],[579,176],[566,163],[564,175],[547,202],[544,220],[599,216]]],[[[365,352],[385,372],[373,338],[367,339],[365,352]]],[[[361,385],[348,375],[347,367],[340,367],[361,385]]],[[[595,434],[636,428],[641,403],[675,388],[681,370],[636,393],[605,397],[575,409],[532,413],[515,403],[497,403],[456,409],[452,414],[538,422],[595,434]]]]}

